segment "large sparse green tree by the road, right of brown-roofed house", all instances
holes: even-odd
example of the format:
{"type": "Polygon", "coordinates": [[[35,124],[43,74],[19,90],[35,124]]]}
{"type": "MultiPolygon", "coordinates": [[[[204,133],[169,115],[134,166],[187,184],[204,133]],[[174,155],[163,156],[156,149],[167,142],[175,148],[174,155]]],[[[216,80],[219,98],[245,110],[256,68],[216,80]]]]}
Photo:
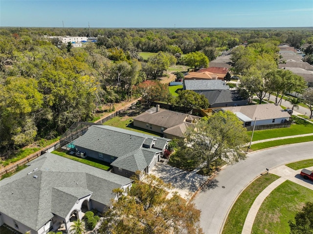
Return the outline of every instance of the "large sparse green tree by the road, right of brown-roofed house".
{"type": "Polygon", "coordinates": [[[247,141],[246,128],[237,116],[230,111],[219,111],[202,118],[195,128],[188,128],[180,150],[195,160],[197,166],[204,163],[210,169],[210,163],[216,159],[227,163],[244,159],[240,147],[247,141]]]}

